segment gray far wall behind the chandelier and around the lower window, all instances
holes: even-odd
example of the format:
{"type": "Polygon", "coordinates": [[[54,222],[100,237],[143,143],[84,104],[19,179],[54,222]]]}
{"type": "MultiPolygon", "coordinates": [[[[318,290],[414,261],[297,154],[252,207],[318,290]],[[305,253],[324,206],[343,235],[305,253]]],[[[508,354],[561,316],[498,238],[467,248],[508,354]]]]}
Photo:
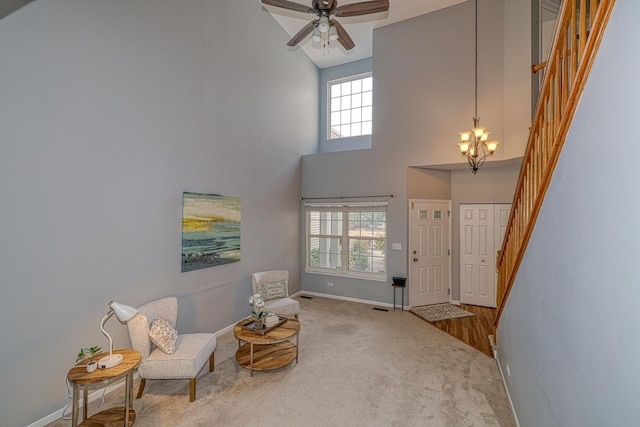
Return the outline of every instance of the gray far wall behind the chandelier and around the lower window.
{"type": "MultiPolygon", "coordinates": [[[[528,23],[531,12],[528,1],[515,3],[483,0],[479,5],[478,108],[492,138],[501,141],[497,159],[504,159],[506,153],[522,156],[530,124],[530,100],[525,96],[530,79],[529,25],[509,26],[507,30],[505,20],[528,23]],[[506,43],[510,37],[513,40],[506,43]],[[507,46],[511,50],[505,52],[507,46]],[[523,62],[525,66],[517,66],[523,62]],[[524,91],[507,90],[523,80],[524,91]],[[510,108],[508,114],[505,105],[510,108]],[[507,135],[509,139],[505,140],[507,135]]],[[[374,31],[372,149],[305,156],[303,195],[395,194],[389,200],[388,239],[389,244],[401,243],[402,250],[388,251],[388,283],[303,273],[305,291],[390,304],[390,278],[407,275],[409,198],[511,201],[518,176],[513,167],[507,171],[487,168],[475,177],[466,168],[451,172],[408,169],[429,165],[460,167],[457,132],[471,128],[474,115],[473,22],[474,2],[470,1],[374,31]],[[459,174],[465,178],[452,179],[459,174]],[[477,200],[462,197],[468,194],[464,188],[469,183],[482,183],[474,187],[477,200]],[[334,287],[329,288],[327,282],[334,283],[334,287]]],[[[456,227],[454,223],[453,230],[456,227]]],[[[457,253],[458,240],[453,241],[453,254],[457,253]]],[[[454,264],[453,271],[456,269],[454,264]]],[[[458,283],[452,284],[456,295],[458,283]]]]}

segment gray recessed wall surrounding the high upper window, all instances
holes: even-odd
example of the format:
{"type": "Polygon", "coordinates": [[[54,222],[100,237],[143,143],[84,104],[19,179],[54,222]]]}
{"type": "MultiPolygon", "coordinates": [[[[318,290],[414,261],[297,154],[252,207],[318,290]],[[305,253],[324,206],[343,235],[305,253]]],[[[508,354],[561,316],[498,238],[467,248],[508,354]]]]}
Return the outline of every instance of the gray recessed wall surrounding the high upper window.
{"type": "MultiPolygon", "coordinates": [[[[359,61],[348,62],[335,67],[323,68],[320,70],[320,136],[318,140],[318,152],[326,153],[331,151],[360,150],[371,148],[371,135],[353,136],[350,138],[327,139],[328,125],[328,84],[331,80],[357,74],[370,73],[372,67],[371,58],[359,61]]],[[[375,78],[375,77],[374,77],[375,78]]]]}

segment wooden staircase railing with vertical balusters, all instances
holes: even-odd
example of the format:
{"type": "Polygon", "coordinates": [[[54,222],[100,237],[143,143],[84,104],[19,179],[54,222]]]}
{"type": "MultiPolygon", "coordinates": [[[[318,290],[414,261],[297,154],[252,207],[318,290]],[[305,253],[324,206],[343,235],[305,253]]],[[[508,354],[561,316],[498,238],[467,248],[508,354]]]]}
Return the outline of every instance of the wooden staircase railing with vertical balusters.
{"type": "MultiPolygon", "coordinates": [[[[497,329],[615,0],[564,0],[531,125],[502,249],[497,329]]],[[[536,70],[537,71],[537,70],[536,70]]]]}

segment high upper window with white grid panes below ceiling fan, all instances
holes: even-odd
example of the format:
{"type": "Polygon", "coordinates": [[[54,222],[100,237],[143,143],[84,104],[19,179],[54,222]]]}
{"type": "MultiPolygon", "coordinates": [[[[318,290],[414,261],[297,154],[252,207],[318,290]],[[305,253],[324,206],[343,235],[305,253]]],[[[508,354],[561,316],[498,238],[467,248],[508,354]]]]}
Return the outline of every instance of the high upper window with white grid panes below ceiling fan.
{"type": "Polygon", "coordinates": [[[329,82],[329,139],[371,135],[372,129],[371,73],[329,82]]]}

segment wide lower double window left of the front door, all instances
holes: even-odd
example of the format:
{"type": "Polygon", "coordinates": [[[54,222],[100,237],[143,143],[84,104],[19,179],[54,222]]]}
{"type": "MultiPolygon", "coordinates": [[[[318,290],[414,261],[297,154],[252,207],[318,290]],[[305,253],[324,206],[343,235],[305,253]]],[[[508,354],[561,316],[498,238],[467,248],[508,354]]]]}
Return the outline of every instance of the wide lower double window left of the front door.
{"type": "Polygon", "coordinates": [[[305,209],[307,271],[386,280],[386,203],[305,209]]]}

